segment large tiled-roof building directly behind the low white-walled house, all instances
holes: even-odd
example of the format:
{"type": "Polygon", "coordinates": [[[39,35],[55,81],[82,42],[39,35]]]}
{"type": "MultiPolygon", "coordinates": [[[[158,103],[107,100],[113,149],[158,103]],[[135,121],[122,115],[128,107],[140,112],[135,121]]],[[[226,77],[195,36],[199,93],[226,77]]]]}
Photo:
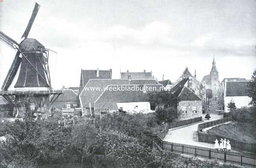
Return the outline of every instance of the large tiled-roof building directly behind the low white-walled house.
{"type": "MultiPolygon", "coordinates": [[[[92,115],[95,111],[95,102],[102,96],[106,88],[110,85],[160,85],[156,80],[127,80],[127,79],[90,79],[88,83],[84,86],[81,93],[79,94],[79,100],[81,103],[81,109],[83,115],[92,115]]],[[[162,85],[160,85],[162,86],[162,85]]],[[[106,92],[105,94],[108,94],[106,92]]],[[[103,98],[102,98],[103,99],[103,98]]],[[[99,100],[100,101],[102,101],[99,100]]],[[[125,99],[125,97],[123,97],[125,99]]],[[[134,98],[135,99],[135,98],[134,98]]],[[[127,98],[127,101],[129,99],[127,98]]],[[[125,101],[125,103],[128,103],[125,101]]],[[[99,103],[98,102],[98,103],[99,103]]],[[[119,102],[121,103],[121,102],[119,102]]],[[[116,106],[115,106],[116,107],[116,106]]],[[[99,112],[101,106],[97,106],[95,112],[99,112]]],[[[102,108],[105,110],[106,108],[102,108]]],[[[112,108],[109,108],[112,109],[112,108]]]]}

